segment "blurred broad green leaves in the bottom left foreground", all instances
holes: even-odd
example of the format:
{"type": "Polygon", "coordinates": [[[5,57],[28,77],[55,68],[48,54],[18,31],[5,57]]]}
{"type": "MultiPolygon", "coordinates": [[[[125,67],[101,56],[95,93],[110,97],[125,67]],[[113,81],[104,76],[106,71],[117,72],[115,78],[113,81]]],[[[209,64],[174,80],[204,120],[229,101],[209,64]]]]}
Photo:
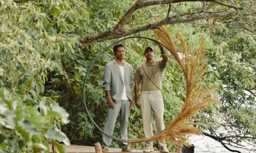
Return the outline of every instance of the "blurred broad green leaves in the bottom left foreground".
{"type": "Polygon", "coordinates": [[[47,139],[60,152],[65,152],[65,148],[57,141],[70,144],[68,137],[60,132],[60,127],[55,127],[59,121],[67,123],[69,117],[57,103],[50,104],[50,107],[44,103],[34,107],[24,106],[19,97],[5,99],[0,91],[0,110],[1,152],[25,152],[27,149],[50,151],[47,139]]]}

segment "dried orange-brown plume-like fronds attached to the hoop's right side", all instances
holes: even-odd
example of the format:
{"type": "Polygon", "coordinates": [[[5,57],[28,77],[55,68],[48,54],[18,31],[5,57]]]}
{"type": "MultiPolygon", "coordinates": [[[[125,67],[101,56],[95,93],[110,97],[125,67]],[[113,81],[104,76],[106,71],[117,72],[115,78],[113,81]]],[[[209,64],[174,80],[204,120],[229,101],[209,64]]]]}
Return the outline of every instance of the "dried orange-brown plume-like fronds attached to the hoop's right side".
{"type": "Polygon", "coordinates": [[[150,138],[130,139],[127,142],[166,140],[178,146],[189,146],[184,141],[186,140],[184,135],[203,135],[201,131],[193,126],[194,123],[189,122],[189,117],[195,115],[199,110],[210,106],[212,103],[218,103],[218,100],[212,97],[216,87],[202,89],[201,86],[202,75],[205,71],[204,54],[206,45],[202,39],[197,52],[194,52],[186,45],[183,37],[179,33],[176,33],[182,47],[182,58],[180,58],[178,48],[170,36],[167,27],[162,26],[160,29],[153,30],[153,32],[160,38],[161,44],[168,49],[171,55],[170,57],[175,59],[181,67],[186,79],[186,98],[180,114],[160,134],[150,138]]]}

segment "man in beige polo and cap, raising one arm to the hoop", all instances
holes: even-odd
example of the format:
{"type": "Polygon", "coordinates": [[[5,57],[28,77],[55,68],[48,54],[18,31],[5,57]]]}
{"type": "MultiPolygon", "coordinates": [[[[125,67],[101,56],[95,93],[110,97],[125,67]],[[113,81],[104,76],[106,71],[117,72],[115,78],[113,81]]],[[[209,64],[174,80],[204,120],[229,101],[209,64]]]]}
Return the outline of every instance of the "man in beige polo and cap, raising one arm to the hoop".
{"type": "MultiPolygon", "coordinates": [[[[159,44],[162,60],[155,60],[155,52],[152,47],[146,47],[144,55],[146,62],[140,64],[135,72],[135,99],[136,106],[141,107],[143,129],[145,137],[152,137],[152,116],[156,120],[156,132],[160,133],[165,129],[163,121],[163,98],[161,94],[163,71],[168,64],[168,57],[165,55],[163,46],[159,44]],[[163,55],[164,54],[164,55],[163,55]],[[139,96],[141,84],[141,91],[139,96]]],[[[164,141],[158,141],[160,152],[169,152],[164,141]]],[[[146,148],[143,152],[153,152],[153,142],[145,142],[146,148]]]]}

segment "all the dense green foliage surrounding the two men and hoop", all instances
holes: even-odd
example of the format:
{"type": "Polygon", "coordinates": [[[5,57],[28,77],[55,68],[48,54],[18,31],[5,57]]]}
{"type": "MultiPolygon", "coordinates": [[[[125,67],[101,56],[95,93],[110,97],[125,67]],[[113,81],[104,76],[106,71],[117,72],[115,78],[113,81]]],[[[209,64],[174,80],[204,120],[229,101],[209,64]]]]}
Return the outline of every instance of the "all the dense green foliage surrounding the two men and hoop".
{"type": "MultiPolygon", "coordinates": [[[[60,150],[57,141],[69,144],[70,140],[72,144],[83,145],[101,142],[102,134],[83,108],[81,89],[91,61],[116,39],[85,46],[78,40],[113,28],[134,3],[121,0],[108,3],[100,0],[1,1],[0,150],[49,150],[48,141],[60,150]]],[[[174,40],[177,31],[193,49],[199,46],[201,38],[206,41],[208,67],[204,86],[219,85],[216,96],[222,105],[207,108],[195,118],[201,119],[203,124],[198,127],[202,131],[209,131],[234,146],[245,141],[255,144],[256,138],[256,36],[250,31],[255,29],[255,23],[250,22],[255,21],[256,15],[250,1],[241,3],[247,9],[239,11],[236,17],[242,15],[243,19],[216,17],[169,25],[174,40]],[[227,133],[218,131],[220,127],[227,133]]],[[[175,9],[170,15],[200,11],[201,7],[200,2],[173,4],[175,9]]],[[[208,10],[233,11],[216,4],[207,7],[208,10]]],[[[167,10],[167,5],[142,8],[133,14],[125,29],[165,18],[167,10]]],[[[140,35],[157,39],[151,31],[140,32],[140,35]]],[[[134,71],[145,60],[143,48],[147,45],[153,46],[156,58],[161,59],[159,49],[150,41],[132,39],[122,43],[126,49],[125,61],[133,65],[134,71]]],[[[178,42],[177,46],[180,46],[178,42]]],[[[101,87],[103,69],[112,60],[110,49],[94,64],[86,86],[91,116],[102,128],[107,108],[101,87]]],[[[184,87],[184,76],[170,59],[163,80],[166,126],[180,112],[184,87]]],[[[136,107],[130,112],[128,130],[130,139],[144,137],[140,110],[136,107]]],[[[119,136],[118,120],[114,135],[119,136]]],[[[131,145],[143,148],[142,144],[131,145]]],[[[119,144],[114,141],[112,146],[119,144]]],[[[173,144],[168,146],[173,147],[173,144]]]]}

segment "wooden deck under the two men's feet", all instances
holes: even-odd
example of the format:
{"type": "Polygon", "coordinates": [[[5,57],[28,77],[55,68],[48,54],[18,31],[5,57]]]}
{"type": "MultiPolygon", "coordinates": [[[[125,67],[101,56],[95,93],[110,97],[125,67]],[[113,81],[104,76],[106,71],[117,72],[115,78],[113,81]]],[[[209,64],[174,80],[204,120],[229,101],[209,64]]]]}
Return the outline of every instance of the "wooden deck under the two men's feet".
{"type": "MultiPolygon", "coordinates": [[[[121,148],[110,148],[111,152],[121,152],[121,148]]],[[[82,146],[82,145],[70,145],[66,146],[66,151],[69,153],[95,153],[95,147],[94,146],[82,146]]],[[[134,152],[143,152],[143,150],[137,150],[134,149],[134,152]]],[[[159,151],[154,151],[159,152],[159,151]]],[[[170,152],[175,153],[175,152],[170,152]]]]}

